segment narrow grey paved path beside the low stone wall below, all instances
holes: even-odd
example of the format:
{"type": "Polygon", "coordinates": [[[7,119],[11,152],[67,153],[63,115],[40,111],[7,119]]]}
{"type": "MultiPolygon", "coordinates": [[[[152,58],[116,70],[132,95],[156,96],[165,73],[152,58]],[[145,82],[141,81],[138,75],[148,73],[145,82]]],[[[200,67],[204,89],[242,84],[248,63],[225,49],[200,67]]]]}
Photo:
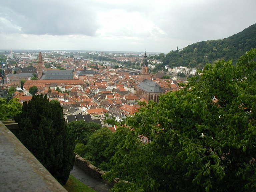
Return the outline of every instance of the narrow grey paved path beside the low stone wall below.
{"type": "Polygon", "coordinates": [[[94,179],[89,174],[80,169],[77,165],[74,165],[73,170],[70,172],[70,174],[77,178],[79,181],[83,182],[85,185],[94,189],[95,191],[108,192],[111,189],[111,186],[97,179],[94,179]]]}

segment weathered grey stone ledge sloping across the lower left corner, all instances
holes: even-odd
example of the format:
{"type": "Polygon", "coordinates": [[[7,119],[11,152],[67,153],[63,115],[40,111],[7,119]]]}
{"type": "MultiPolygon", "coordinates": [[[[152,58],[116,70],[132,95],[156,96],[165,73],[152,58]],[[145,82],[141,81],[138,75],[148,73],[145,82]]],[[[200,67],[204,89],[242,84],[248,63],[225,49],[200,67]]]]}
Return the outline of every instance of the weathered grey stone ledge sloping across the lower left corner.
{"type": "Polygon", "coordinates": [[[0,121],[0,191],[67,192],[0,121]]]}

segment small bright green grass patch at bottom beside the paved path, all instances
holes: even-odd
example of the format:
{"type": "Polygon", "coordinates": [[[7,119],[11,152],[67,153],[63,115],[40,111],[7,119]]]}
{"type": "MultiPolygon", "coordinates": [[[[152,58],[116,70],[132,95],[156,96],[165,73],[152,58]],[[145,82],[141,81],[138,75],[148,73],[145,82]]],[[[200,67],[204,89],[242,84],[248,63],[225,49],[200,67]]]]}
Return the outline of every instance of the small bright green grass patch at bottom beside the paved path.
{"type": "Polygon", "coordinates": [[[96,192],[84,183],[77,180],[73,175],[69,175],[66,185],[63,186],[68,192],[96,192]]]}

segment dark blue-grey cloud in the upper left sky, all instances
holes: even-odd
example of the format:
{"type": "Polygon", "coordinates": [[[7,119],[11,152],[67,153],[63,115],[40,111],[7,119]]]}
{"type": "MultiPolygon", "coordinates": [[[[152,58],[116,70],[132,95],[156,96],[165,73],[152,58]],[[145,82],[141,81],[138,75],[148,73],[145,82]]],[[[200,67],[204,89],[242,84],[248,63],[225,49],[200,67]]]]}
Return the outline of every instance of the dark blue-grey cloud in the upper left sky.
{"type": "MultiPolygon", "coordinates": [[[[16,30],[17,33],[94,36],[98,27],[93,9],[75,1],[69,5],[62,1],[5,2],[1,10],[9,10],[8,14],[0,13],[0,17],[19,26],[21,31],[16,30]]],[[[0,28],[15,31],[8,23],[0,22],[0,28]]]]}

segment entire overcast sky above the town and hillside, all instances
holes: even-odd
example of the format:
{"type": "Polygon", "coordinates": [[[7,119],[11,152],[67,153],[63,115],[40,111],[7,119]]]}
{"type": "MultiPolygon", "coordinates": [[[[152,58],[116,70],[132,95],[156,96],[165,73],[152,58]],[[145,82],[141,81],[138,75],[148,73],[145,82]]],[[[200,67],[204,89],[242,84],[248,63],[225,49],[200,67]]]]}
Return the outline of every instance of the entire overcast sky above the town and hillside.
{"type": "Polygon", "coordinates": [[[256,0],[4,0],[0,49],[168,53],[256,23],[256,0]]]}

